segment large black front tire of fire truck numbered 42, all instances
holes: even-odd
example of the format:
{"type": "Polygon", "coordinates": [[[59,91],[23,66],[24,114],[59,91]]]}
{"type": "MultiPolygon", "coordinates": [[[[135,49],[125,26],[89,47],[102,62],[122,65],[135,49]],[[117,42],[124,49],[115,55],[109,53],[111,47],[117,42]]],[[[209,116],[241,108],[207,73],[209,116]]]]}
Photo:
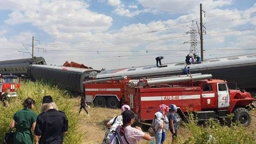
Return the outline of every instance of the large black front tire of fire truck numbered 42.
{"type": "Polygon", "coordinates": [[[234,121],[239,121],[242,126],[248,126],[251,123],[251,115],[246,108],[237,108],[233,111],[234,121]]]}

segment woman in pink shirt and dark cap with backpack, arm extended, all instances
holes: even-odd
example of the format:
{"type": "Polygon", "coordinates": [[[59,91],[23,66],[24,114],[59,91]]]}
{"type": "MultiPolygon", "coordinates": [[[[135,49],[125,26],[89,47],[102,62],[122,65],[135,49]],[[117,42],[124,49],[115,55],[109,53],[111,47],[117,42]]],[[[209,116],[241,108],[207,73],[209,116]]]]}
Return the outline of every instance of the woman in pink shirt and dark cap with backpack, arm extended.
{"type": "Polygon", "coordinates": [[[132,110],[124,111],[122,117],[123,125],[117,127],[116,133],[111,136],[110,144],[137,144],[141,139],[152,140],[139,126],[131,126],[138,117],[132,110]]]}

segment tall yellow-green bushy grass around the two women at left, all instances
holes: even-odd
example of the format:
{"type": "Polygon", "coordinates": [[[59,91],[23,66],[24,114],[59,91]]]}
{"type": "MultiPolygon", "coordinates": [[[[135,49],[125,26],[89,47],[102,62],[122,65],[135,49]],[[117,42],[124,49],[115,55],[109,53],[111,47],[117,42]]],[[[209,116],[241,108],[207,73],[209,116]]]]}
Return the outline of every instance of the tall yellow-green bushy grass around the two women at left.
{"type": "Polygon", "coordinates": [[[74,115],[73,103],[69,100],[70,96],[64,90],[59,90],[57,86],[45,84],[41,81],[21,81],[20,90],[17,90],[18,97],[12,98],[9,101],[9,107],[0,106],[0,141],[3,141],[4,134],[8,131],[12,117],[16,111],[22,109],[22,102],[28,97],[36,101],[36,106],[33,109],[37,115],[40,114],[40,106],[42,98],[45,95],[51,95],[59,110],[64,111],[68,121],[69,130],[64,136],[64,144],[81,144],[83,133],[78,132],[79,119],[74,115]]]}

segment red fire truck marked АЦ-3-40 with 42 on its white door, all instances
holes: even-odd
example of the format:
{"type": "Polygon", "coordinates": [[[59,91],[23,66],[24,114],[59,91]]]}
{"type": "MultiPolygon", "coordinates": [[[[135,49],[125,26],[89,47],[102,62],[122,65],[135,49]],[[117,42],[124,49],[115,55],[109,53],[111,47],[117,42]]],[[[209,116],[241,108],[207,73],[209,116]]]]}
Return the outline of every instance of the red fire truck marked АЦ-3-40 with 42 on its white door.
{"type": "Polygon", "coordinates": [[[161,84],[161,81],[165,80],[155,81],[158,81],[155,85],[137,84],[134,87],[125,87],[124,103],[130,105],[140,121],[152,120],[161,104],[175,104],[183,120],[187,119],[188,112],[194,113],[198,121],[210,118],[224,120],[234,113],[233,119],[242,125],[248,126],[251,122],[248,105],[252,104],[254,99],[244,90],[229,90],[226,81],[207,79],[171,85],[161,84]]]}

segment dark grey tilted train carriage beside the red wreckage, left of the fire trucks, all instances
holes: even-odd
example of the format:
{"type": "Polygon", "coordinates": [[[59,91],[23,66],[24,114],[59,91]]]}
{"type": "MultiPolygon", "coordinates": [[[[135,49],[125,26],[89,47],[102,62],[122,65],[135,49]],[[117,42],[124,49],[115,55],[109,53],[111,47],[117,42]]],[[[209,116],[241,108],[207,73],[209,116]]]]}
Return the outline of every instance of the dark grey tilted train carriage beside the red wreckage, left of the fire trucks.
{"type": "Polygon", "coordinates": [[[38,64],[31,64],[29,69],[29,76],[33,80],[51,81],[59,87],[78,93],[84,93],[82,82],[97,74],[98,71],[93,69],[38,64]]]}

